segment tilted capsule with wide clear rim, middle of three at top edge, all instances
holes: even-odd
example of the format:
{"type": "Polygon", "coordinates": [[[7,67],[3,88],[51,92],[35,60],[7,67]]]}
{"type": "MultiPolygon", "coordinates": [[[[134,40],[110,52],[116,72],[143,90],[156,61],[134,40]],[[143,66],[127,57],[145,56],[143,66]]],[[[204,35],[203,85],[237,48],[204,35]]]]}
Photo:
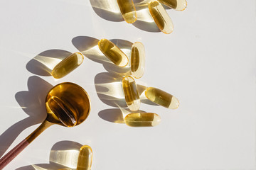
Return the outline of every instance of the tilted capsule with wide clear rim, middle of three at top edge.
{"type": "Polygon", "coordinates": [[[169,34],[174,30],[171,18],[159,1],[149,2],[149,12],[161,32],[169,34]]]}

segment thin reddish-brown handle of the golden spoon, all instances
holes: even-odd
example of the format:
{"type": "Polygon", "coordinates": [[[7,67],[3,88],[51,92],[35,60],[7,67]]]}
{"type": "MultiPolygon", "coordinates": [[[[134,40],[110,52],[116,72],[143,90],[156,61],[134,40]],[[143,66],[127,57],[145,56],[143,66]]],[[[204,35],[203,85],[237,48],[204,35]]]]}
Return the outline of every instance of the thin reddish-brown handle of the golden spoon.
{"type": "Polygon", "coordinates": [[[9,164],[19,153],[21,153],[21,151],[23,151],[23,149],[25,149],[33,140],[35,140],[36,137],[43,132],[43,130],[49,128],[50,125],[53,125],[53,123],[44,120],[43,123],[31,133],[31,135],[28,135],[25,140],[21,141],[18,145],[16,145],[16,147],[4,155],[4,157],[0,159],[0,169],[4,169],[7,164],[9,164]]]}

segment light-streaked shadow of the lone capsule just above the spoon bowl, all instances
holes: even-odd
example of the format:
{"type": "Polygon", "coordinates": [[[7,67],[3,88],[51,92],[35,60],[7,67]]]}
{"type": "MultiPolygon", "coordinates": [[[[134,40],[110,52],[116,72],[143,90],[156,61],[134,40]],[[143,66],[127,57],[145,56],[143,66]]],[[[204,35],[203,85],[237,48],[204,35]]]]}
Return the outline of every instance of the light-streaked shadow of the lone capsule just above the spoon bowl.
{"type": "Polygon", "coordinates": [[[36,57],[33,57],[33,59],[26,64],[26,69],[28,72],[39,76],[51,76],[55,65],[71,54],[71,52],[65,50],[46,50],[36,55],[36,57]]]}

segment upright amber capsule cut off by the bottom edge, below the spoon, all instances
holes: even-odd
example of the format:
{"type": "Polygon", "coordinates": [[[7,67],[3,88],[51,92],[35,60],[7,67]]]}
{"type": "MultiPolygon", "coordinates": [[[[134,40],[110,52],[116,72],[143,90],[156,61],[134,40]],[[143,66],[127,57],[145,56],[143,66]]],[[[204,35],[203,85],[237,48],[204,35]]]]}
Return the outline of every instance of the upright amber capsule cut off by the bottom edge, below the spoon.
{"type": "Polygon", "coordinates": [[[92,148],[84,145],[80,148],[77,170],[90,170],[92,166],[92,148]]]}

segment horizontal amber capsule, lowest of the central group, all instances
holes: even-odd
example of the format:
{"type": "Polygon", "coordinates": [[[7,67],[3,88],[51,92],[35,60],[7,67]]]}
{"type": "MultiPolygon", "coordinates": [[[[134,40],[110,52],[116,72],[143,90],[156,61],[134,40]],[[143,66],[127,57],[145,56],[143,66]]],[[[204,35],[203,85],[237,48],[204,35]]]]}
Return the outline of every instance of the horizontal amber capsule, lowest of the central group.
{"type": "Polygon", "coordinates": [[[133,127],[150,127],[160,123],[161,118],[156,113],[130,113],[124,118],[124,122],[133,127]]]}

